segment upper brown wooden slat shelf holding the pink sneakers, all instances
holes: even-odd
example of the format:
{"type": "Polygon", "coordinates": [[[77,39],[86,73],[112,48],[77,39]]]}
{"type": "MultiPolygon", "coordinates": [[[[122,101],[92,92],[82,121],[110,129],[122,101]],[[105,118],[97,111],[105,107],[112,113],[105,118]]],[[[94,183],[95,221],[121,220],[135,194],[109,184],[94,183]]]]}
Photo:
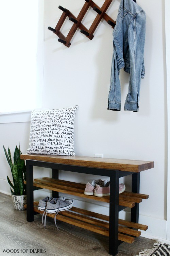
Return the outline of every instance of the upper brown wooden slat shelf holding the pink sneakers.
{"type": "MultiPolygon", "coordinates": [[[[109,196],[96,197],[84,195],[85,184],[81,183],[55,180],[48,177],[43,177],[43,179],[34,179],[34,186],[66,193],[73,196],[79,196],[109,203],[109,196]]],[[[124,191],[122,194],[119,195],[119,205],[123,207],[133,208],[135,206],[135,203],[140,203],[142,201],[142,198],[146,199],[148,198],[148,195],[124,191]]]]}

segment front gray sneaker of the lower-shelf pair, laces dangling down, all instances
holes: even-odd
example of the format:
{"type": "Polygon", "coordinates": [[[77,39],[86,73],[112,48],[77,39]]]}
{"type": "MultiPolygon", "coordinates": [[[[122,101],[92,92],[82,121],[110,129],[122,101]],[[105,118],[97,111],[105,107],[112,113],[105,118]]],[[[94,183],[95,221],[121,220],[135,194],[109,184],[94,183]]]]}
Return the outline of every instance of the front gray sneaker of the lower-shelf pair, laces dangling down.
{"type": "MultiPolygon", "coordinates": [[[[55,216],[54,216],[54,222],[55,222],[55,226],[57,227],[57,225],[56,225],[56,216],[57,216],[58,212],[69,210],[69,209],[71,209],[72,206],[73,206],[73,200],[72,199],[66,199],[66,200],[62,201],[58,198],[53,198],[50,202],[47,202],[46,215],[45,215],[45,219],[44,219],[44,227],[46,228],[47,213],[56,213],[55,216]]],[[[58,227],[57,227],[57,229],[58,229],[58,227]]]]}

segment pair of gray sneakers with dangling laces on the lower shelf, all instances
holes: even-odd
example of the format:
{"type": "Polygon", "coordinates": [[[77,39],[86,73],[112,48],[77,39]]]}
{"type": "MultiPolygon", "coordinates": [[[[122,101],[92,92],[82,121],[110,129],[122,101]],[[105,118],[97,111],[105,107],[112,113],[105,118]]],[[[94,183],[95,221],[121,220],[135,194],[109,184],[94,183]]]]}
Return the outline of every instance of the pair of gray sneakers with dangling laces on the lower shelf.
{"type": "Polygon", "coordinates": [[[38,210],[44,211],[43,217],[42,217],[42,223],[43,223],[44,214],[45,214],[43,226],[46,228],[47,213],[56,213],[54,216],[54,222],[55,222],[55,226],[57,227],[56,216],[58,212],[69,210],[72,208],[72,206],[73,206],[73,200],[65,199],[65,197],[58,197],[58,198],[46,197],[42,200],[40,199],[38,204],[38,210]]]}

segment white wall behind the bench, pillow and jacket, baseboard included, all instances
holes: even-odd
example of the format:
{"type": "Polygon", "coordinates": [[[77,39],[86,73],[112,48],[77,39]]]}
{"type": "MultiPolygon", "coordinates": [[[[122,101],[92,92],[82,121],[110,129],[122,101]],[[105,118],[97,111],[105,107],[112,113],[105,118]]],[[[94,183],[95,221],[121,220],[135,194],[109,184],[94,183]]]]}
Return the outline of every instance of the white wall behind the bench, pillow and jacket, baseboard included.
{"type": "MultiPolygon", "coordinates": [[[[104,0],[96,0],[101,6],[104,0]]],[[[124,111],[124,101],[128,93],[129,75],[120,72],[122,85],[122,110],[107,110],[107,98],[113,53],[113,29],[104,20],[99,24],[90,41],[80,31],[71,40],[71,46],[65,47],[57,42],[57,36],[49,31],[55,27],[62,11],[58,5],[69,9],[77,16],[84,0],[45,0],[45,40],[44,40],[44,79],[43,107],[62,108],[79,104],[75,117],[74,144],[76,155],[149,160],[155,162],[155,168],[141,173],[140,192],[149,194],[148,200],[140,204],[140,223],[149,225],[143,236],[166,239],[167,218],[167,116],[166,116],[166,61],[165,61],[165,22],[164,0],[138,0],[138,4],[147,15],[145,68],[146,76],[141,81],[140,109],[138,113],[124,111]]],[[[107,14],[114,20],[120,0],[110,5],[107,14]]],[[[83,24],[89,28],[96,13],[88,12],[83,24]]],[[[62,33],[67,35],[72,23],[67,20],[62,33]]],[[[2,143],[15,147],[20,141],[21,150],[26,151],[29,141],[30,123],[1,124],[2,143]],[[10,135],[9,135],[10,132],[10,135]]],[[[10,192],[6,187],[7,164],[3,149],[1,152],[0,190],[10,192]],[[5,171],[4,171],[5,170],[5,171]]],[[[43,170],[48,175],[49,170],[43,170]]],[[[37,171],[41,177],[41,170],[37,171]]],[[[74,175],[62,172],[62,179],[79,182],[91,181],[95,176],[74,175]],[[69,174],[69,175],[68,175],[69,174]]],[[[130,189],[130,178],[125,179],[130,189]]],[[[35,198],[39,197],[35,192],[35,198]]],[[[72,197],[74,198],[74,197],[72,197]]],[[[75,205],[85,209],[108,214],[108,205],[101,208],[90,200],[74,198],[75,205]]],[[[120,217],[125,213],[121,212],[120,217]]],[[[128,213],[126,214],[129,215],[128,213]]]]}

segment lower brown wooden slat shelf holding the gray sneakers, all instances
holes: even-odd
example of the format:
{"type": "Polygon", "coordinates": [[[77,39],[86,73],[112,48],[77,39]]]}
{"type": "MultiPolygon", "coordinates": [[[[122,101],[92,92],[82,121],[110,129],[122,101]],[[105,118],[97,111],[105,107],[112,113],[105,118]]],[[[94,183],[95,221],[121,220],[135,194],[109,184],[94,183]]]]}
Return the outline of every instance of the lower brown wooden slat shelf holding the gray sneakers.
{"type": "MultiPolygon", "coordinates": [[[[37,209],[37,205],[38,202],[34,202],[34,211],[43,214],[43,211],[39,211],[37,209]]],[[[47,214],[47,216],[54,218],[55,213],[47,214]]],[[[69,211],[59,212],[57,215],[57,219],[59,221],[72,224],[74,226],[78,226],[99,234],[103,234],[104,236],[109,236],[109,223],[106,222],[108,221],[109,217],[103,214],[98,214],[76,207],[72,207],[69,211]]],[[[148,228],[146,225],[123,221],[121,219],[119,219],[119,224],[123,226],[119,225],[118,227],[118,239],[120,241],[127,243],[133,243],[135,239],[134,237],[139,237],[141,235],[141,231],[133,230],[132,228],[129,227],[134,226],[134,228],[142,230],[146,230],[148,228]]]]}

